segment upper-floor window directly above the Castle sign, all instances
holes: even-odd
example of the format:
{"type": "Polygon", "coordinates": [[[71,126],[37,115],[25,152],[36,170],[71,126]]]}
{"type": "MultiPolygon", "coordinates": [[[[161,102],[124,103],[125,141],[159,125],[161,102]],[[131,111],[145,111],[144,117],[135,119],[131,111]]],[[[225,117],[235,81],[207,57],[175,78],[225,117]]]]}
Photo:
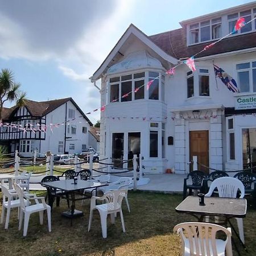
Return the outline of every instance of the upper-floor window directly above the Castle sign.
{"type": "Polygon", "coordinates": [[[256,61],[236,65],[240,92],[256,92],[256,61]]]}

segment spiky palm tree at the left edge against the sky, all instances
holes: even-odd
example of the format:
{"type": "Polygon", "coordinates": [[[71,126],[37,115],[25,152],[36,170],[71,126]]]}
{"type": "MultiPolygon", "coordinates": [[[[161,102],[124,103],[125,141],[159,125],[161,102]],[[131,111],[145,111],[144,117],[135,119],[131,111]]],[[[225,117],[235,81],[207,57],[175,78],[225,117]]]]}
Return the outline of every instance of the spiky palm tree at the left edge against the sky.
{"type": "Polygon", "coordinates": [[[17,106],[23,106],[26,100],[26,93],[20,92],[20,83],[14,81],[13,72],[3,68],[0,72],[0,121],[3,116],[3,104],[6,101],[16,100],[17,106]]]}

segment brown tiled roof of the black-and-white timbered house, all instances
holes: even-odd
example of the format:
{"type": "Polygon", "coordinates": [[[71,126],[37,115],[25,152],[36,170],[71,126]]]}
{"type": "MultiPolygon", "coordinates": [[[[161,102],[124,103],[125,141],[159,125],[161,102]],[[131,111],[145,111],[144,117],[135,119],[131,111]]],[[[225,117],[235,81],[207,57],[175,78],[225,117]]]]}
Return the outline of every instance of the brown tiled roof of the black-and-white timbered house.
{"type": "MultiPolygon", "coordinates": [[[[84,112],[79,108],[79,106],[76,104],[76,102],[71,98],[61,98],[59,100],[52,100],[52,101],[31,101],[31,100],[26,100],[24,107],[30,112],[32,117],[43,117],[44,115],[49,114],[53,110],[59,108],[59,106],[65,104],[65,102],[71,101],[73,105],[75,105],[76,109],[81,113],[81,115],[86,119],[86,121],[89,123],[90,126],[93,125],[92,122],[90,122],[89,118],[86,117],[84,112]]],[[[5,113],[3,119],[8,119],[11,117],[11,115],[14,115],[16,110],[18,109],[17,106],[13,106],[11,109],[4,108],[5,113]]]]}

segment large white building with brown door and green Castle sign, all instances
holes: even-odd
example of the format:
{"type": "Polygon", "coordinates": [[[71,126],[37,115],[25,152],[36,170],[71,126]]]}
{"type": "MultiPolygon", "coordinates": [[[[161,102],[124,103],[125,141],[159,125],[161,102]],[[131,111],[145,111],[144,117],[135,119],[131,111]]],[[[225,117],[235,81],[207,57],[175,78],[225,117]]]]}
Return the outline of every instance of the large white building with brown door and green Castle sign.
{"type": "Polygon", "coordinates": [[[184,20],[181,28],[157,35],[131,24],[91,77],[101,79],[101,156],[141,154],[144,171],[152,174],[167,168],[188,173],[193,156],[210,167],[200,166],[205,172],[255,166],[255,17],[251,2],[184,20]],[[217,42],[242,17],[247,24],[217,42]],[[192,72],[184,60],[193,55],[192,72]],[[214,65],[226,72],[224,78],[233,77],[239,92],[228,89],[214,65]]]}

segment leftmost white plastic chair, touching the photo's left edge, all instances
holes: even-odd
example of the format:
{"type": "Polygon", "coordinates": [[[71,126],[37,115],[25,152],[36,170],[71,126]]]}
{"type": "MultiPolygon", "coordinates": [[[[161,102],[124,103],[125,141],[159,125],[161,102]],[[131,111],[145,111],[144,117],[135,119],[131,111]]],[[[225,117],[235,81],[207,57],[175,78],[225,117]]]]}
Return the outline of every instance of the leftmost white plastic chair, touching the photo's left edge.
{"type": "MultiPolygon", "coordinates": [[[[13,208],[18,208],[20,203],[19,199],[14,199],[14,197],[18,196],[14,189],[7,189],[4,185],[0,185],[3,195],[3,205],[2,205],[2,214],[1,214],[1,224],[3,223],[3,218],[5,217],[5,209],[7,209],[6,220],[5,220],[5,229],[8,229],[9,220],[10,220],[10,212],[13,208]]],[[[19,219],[19,212],[18,212],[19,219]]]]}

